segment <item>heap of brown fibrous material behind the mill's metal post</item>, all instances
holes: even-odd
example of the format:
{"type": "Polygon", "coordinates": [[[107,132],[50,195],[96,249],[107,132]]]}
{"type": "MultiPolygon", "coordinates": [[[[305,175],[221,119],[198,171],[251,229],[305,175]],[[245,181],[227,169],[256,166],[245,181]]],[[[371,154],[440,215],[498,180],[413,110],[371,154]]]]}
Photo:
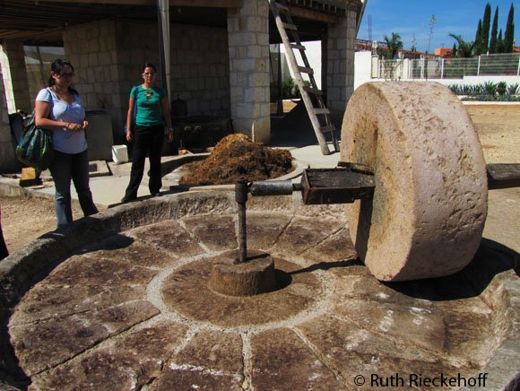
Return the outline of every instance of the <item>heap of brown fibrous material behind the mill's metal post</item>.
{"type": "Polygon", "coordinates": [[[232,184],[238,178],[248,181],[278,178],[292,168],[290,152],[253,143],[247,135],[224,137],[204,161],[186,164],[189,175],[180,178],[184,185],[232,184]]]}

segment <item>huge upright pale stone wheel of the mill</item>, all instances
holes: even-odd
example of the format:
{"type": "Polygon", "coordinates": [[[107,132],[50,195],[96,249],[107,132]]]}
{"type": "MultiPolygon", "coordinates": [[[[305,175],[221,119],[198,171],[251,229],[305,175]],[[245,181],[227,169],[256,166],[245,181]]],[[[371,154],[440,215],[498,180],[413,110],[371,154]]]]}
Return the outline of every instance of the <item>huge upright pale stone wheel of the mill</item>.
{"type": "Polygon", "coordinates": [[[439,83],[366,83],[342,123],[342,161],[368,165],[373,200],[347,205],[351,238],[377,279],[453,274],[486,220],[486,167],[462,103],[439,83]]]}

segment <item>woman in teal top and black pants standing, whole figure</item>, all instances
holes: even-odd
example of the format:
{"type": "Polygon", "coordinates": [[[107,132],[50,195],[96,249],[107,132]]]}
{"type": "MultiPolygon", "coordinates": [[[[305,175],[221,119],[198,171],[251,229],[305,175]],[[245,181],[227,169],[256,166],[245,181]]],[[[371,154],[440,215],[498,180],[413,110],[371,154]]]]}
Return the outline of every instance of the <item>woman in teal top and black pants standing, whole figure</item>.
{"type": "Polygon", "coordinates": [[[123,203],[137,198],[144,173],[144,161],[148,152],[150,180],[148,187],[152,196],[160,196],[162,180],[160,175],[160,152],[166,135],[171,143],[173,129],[169,116],[168,96],[160,87],[155,87],[157,69],[153,64],[143,65],[143,84],[130,91],[128,114],[126,116],[126,140],[134,143],[130,183],[126,187],[123,203]],[[135,112],[134,112],[135,111],[135,112]]]}

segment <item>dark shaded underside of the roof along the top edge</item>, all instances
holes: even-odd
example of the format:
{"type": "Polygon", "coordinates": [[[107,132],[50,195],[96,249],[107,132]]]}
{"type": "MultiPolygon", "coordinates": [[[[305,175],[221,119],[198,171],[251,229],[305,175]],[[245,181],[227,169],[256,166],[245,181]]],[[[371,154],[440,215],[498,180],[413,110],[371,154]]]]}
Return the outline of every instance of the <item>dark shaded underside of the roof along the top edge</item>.
{"type": "MultiPolygon", "coordinates": [[[[302,40],[320,39],[327,23],[337,23],[360,0],[286,0],[302,40]]],[[[170,22],[225,28],[227,10],[242,0],[169,0],[170,22]]],[[[156,0],[0,0],[0,41],[22,39],[30,45],[61,46],[68,27],[105,19],[157,20],[156,0]]],[[[271,42],[279,41],[270,23],[271,42]]]]}

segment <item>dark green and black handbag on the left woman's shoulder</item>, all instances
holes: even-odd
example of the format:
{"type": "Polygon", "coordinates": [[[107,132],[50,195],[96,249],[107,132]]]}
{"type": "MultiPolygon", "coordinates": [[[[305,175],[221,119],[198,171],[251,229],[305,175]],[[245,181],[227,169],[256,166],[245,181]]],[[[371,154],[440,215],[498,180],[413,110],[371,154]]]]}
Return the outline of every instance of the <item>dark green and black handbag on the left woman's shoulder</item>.
{"type": "Polygon", "coordinates": [[[43,171],[54,157],[52,135],[49,130],[34,124],[34,111],[23,124],[22,138],[16,147],[16,157],[23,164],[43,171]]]}

